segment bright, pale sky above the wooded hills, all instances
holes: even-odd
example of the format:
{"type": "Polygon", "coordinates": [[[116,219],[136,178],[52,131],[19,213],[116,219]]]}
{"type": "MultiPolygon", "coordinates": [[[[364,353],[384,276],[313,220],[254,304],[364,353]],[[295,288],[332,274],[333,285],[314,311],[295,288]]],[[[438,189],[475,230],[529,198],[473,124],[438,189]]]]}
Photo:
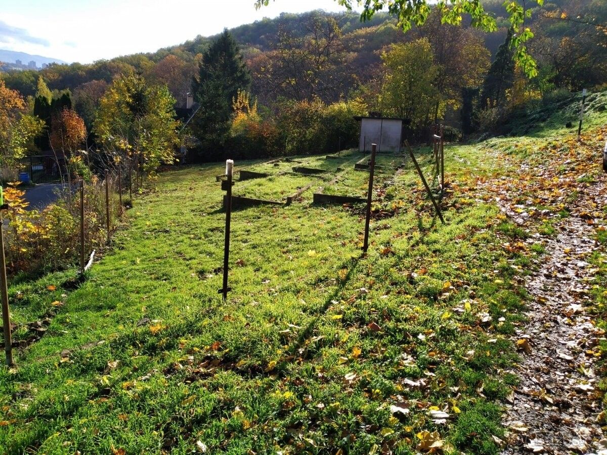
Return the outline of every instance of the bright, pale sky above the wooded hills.
{"type": "Polygon", "coordinates": [[[0,49],[90,63],[154,52],[282,12],[343,11],[334,0],[0,0],[0,49]]]}

